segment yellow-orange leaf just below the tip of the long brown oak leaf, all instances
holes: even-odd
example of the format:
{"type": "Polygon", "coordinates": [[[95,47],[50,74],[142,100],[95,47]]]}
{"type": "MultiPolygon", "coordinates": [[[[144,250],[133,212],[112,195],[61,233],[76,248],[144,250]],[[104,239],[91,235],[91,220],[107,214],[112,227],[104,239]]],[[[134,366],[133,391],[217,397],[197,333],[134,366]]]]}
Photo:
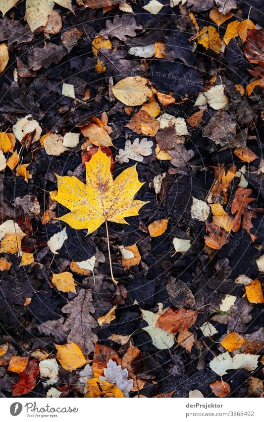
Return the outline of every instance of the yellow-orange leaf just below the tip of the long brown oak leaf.
{"type": "Polygon", "coordinates": [[[80,368],[87,363],[82,351],[75,343],[55,344],[56,358],[66,371],[80,368]]]}

